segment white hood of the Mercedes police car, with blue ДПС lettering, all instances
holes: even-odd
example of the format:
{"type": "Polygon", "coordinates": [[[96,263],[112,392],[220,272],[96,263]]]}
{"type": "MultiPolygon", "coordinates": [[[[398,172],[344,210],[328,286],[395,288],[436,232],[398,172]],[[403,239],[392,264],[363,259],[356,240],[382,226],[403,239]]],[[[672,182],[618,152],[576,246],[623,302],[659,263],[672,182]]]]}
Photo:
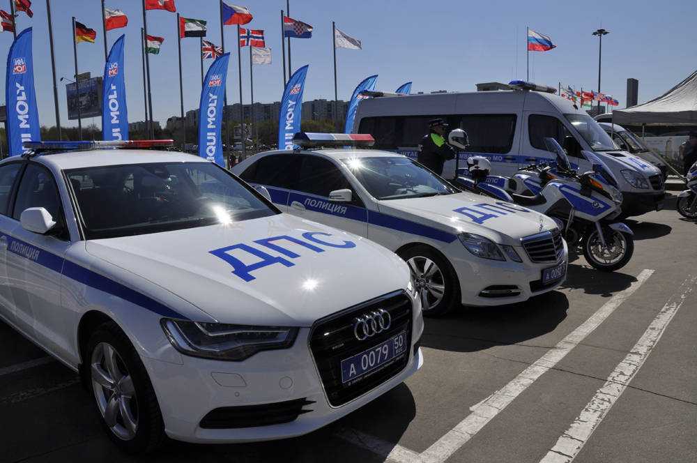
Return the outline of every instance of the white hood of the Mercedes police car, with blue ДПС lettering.
{"type": "Polygon", "coordinates": [[[520,245],[520,238],[556,228],[556,223],[516,204],[461,192],[380,202],[380,211],[415,222],[431,222],[453,234],[480,234],[500,244],[520,245]]]}

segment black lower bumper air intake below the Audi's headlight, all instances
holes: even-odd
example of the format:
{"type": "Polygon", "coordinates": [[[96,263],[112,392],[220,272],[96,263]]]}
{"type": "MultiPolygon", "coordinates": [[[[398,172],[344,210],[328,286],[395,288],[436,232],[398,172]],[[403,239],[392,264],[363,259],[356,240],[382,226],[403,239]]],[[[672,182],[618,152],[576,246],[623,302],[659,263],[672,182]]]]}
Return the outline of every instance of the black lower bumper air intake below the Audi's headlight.
{"type": "Polygon", "coordinates": [[[208,412],[201,420],[201,427],[208,430],[223,430],[291,423],[302,413],[312,411],[303,408],[309,404],[314,404],[314,402],[307,399],[297,399],[274,404],[221,407],[208,412]]]}

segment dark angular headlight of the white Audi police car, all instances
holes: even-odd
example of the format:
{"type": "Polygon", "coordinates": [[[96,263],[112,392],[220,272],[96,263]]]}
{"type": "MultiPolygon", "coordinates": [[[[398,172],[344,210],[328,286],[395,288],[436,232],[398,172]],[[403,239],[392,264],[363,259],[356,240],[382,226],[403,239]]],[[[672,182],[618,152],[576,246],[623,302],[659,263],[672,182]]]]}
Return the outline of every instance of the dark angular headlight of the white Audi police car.
{"type": "Polygon", "coordinates": [[[259,351],[287,349],[293,345],[298,328],[282,326],[240,326],[162,319],[167,339],[182,354],[240,361],[259,351]]]}

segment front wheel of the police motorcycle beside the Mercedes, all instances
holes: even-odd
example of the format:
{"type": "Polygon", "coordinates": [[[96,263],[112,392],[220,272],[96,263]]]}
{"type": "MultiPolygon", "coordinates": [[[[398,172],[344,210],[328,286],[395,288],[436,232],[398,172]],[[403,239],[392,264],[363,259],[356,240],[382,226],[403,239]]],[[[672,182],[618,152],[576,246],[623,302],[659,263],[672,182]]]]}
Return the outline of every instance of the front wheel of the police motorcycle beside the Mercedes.
{"type": "Polygon", "coordinates": [[[604,232],[606,246],[600,240],[597,229],[583,237],[583,255],[593,268],[613,272],[624,267],[634,254],[634,237],[631,234],[608,229],[604,232]]]}

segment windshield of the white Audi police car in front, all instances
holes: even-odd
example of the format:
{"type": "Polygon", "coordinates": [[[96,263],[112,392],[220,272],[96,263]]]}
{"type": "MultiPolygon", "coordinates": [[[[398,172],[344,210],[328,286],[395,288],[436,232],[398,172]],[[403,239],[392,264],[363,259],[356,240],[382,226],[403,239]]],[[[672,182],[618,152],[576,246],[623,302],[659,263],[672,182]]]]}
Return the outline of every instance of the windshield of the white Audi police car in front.
{"type": "Polygon", "coordinates": [[[70,169],[87,239],[240,222],[277,213],[210,162],[70,169]]]}

